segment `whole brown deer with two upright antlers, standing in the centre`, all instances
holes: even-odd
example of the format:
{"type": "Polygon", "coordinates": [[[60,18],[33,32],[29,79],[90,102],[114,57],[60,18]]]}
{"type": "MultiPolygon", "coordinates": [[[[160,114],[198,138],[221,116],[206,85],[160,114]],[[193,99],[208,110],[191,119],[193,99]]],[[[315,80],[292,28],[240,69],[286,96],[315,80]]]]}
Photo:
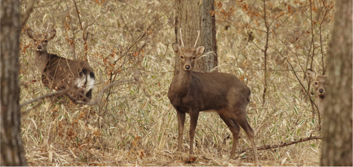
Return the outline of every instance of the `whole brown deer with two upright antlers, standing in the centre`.
{"type": "MultiPolygon", "coordinates": [[[[200,32],[199,32],[200,33],[200,32]]],[[[199,34],[197,36],[197,39],[199,34]]],[[[196,43],[197,43],[196,39],[196,43]]],[[[204,46],[186,49],[173,44],[174,52],[180,57],[180,72],[174,77],[168,91],[168,98],[178,115],[179,142],[178,155],[182,151],[185,114],[190,115],[190,152],[193,154],[193,141],[197,119],[201,111],[216,111],[233,133],[231,158],[242,127],[248,135],[254,153],[255,165],[259,166],[254,130],[246,119],[246,107],[250,101],[250,89],[235,75],[221,72],[192,72],[195,60],[202,55],[204,46]],[[239,127],[240,126],[240,127],[239,127]]]]}

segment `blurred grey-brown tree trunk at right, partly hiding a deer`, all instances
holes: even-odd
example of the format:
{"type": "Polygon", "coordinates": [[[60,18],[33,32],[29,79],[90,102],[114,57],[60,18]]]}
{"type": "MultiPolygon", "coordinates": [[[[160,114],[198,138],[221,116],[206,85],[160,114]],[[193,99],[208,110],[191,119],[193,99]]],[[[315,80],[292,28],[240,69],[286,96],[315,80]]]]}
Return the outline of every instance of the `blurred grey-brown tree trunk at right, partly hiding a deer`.
{"type": "Polygon", "coordinates": [[[337,0],[336,7],[329,44],[321,165],[352,167],[352,0],[337,0]]]}

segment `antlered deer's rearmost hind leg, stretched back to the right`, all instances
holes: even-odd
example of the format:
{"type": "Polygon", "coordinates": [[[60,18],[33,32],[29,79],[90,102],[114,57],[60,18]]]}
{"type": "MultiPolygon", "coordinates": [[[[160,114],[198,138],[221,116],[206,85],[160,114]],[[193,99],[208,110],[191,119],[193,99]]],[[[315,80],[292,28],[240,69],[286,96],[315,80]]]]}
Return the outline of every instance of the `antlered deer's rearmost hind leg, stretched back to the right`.
{"type": "Polygon", "coordinates": [[[233,119],[235,120],[236,123],[238,123],[241,126],[241,128],[244,129],[246,135],[249,137],[251,146],[253,148],[255,166],[259,166],[260,164],[258,160],[257,147],[255,144],[254,130],[253,128],[251,128],[249,122],[246,120],[246,109],[239,109],[239,111],[236,113],[237,115],[234,116],[233,119]],[[240,110],[243,110],[243,111],[240,111],[240,110]]]}

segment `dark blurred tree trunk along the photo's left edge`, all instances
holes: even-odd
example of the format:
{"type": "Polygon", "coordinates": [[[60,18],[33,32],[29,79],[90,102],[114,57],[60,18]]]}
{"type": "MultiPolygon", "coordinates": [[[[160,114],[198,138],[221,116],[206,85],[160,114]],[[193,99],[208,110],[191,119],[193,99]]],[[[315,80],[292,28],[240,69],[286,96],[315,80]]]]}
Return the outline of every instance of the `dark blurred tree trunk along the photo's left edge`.
{"type": "Polygon", "coordinates": [[[1,0],[1,166],[26,166],[21,140],[20,0],[1,0]]]}

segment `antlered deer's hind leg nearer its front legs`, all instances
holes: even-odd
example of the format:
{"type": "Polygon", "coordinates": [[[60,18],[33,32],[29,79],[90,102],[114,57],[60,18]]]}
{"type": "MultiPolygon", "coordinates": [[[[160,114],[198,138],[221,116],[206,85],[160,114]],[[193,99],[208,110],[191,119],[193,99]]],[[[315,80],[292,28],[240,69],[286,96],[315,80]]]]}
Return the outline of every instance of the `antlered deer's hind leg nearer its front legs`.
{"type": "Polygon", "coordinates": [[[233,145],[230,156],[230,159],[232,159],[235,156],[235,149],[236,144],[238,143],[240,127],[231,117],[226,116],[225,114],[219,114],[219,117],[223,119],[223,121],[227,124],[227,126],[229,127],[229,129],[231,129],[231,132],[233,133],[233,145]]]}

